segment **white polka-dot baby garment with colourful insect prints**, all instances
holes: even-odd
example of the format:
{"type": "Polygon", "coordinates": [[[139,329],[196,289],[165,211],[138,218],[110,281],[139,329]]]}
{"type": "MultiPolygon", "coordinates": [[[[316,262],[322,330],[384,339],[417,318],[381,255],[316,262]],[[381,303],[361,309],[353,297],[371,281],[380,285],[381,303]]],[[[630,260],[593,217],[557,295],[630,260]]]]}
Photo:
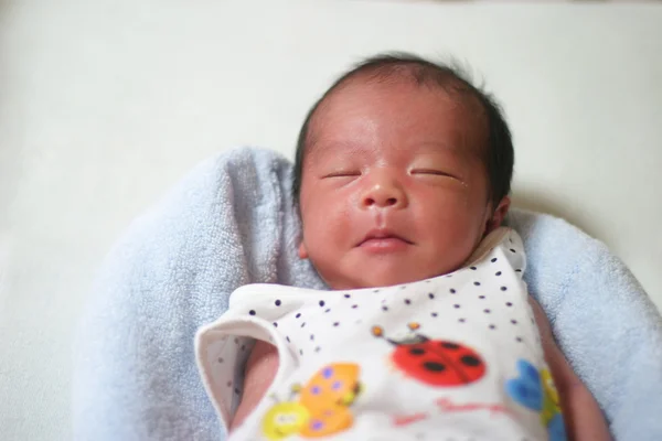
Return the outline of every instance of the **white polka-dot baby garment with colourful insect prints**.
{"type": "Polygon", "coordinates": [[[564,440],[517,234],[500,228],[452,273],[317,291],[239,288],[196,335],[227,427],[255,340],[278,348],[269,390],[231,440],[564,440]]]}

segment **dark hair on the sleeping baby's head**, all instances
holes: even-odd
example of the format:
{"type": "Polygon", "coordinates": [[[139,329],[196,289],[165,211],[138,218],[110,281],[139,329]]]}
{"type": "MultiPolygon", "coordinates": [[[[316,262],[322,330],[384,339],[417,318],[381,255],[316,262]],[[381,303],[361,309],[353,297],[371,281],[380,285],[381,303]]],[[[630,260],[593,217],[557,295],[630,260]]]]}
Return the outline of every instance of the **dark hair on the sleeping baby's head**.
{"type": "Polygon", "coordinates": [[[303,159],[306,155],[306,147],[309,141],[312,118],[320,105],[334,90],[342,87],[346,82],[359,74],[365,75],[369,80],[377,82],[406,77],[416,85],[434,85],[441,87],[447,92],[466,93],[477,99],[484,110],[488,125],[484,162],[490,183],[490,197],[494,208],[496,207],[496,204],[510,193],[514,165],[513,141],[503,111],[494,97],[482,90],[480,87],[471,84],[463,71],[458,66],[433,63],[407,53],[387,53],[365,58],[352,69],[341,75],[308,111],[297,140],[292,182],[295,204],[298,205],[299,203],[303,159]]]}

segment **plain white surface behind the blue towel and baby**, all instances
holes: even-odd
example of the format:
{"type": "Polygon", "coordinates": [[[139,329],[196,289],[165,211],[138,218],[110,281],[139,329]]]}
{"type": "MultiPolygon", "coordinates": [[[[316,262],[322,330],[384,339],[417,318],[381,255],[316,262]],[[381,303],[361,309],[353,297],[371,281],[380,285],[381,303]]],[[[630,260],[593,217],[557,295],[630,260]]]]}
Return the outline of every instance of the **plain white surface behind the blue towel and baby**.
{"type": "MultiPolygon", "coordinates": [[[[504,103],[520,205],[605,240],[662,305],[662,9],[0,2],[0,439],[71,437],[71,337],[121,229],[200,160],[291,157],[330,80],[453,54],[504,103]]],[[[182,342],[185,344],[185,342],[182,342]]]]}

